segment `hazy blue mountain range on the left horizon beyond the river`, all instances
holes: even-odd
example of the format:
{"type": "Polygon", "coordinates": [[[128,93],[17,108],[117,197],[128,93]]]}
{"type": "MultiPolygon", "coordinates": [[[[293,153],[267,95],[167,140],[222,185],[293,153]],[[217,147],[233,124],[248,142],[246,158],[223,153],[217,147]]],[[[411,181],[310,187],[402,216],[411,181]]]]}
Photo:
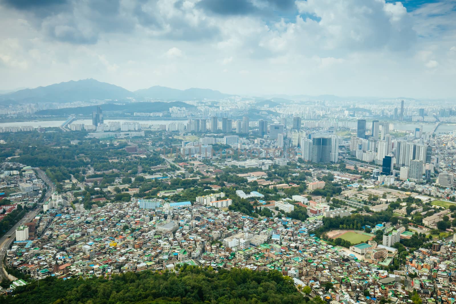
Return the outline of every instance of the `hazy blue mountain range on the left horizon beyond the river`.
{"type": "Polygon", "coordinates": [[[107,82],[83,79],[52,84],[46,87],[23,89],[0,95],[0,103],[72,103],[90,100],[142,101],[146,98],[165,101],[223,99],[232,96],[210,89],[190,88],[178,90],[154,86],[131,92],[107,82]]]}

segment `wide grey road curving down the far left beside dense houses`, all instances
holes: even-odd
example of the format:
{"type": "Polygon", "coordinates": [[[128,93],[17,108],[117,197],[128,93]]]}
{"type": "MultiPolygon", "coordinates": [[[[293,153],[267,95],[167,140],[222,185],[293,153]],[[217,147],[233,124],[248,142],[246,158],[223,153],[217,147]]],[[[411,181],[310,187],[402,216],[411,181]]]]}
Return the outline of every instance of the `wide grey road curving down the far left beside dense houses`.
{"type": "Polygon", "coordinates": [[[3,265],[3,260],[5,258],[6,251],[8,248],[10,248],[11,244],[14,242],[16,239],[16,228],[30,222],[35,216],[38,215],[41,211],[41,205],[44,201],[47,201],[50,197],[53,191],[56,190],[55,185],[52,183],[52,181],[47,177],[47,175],[44,173],[43,170],[34,168],[36,171],[36,174],[38,175],[41,180],[43,180],[47,185],[48,185],[48,190],[46,191],[46,196],[44,199],[40,202],[40,204],[36,207],[35,210],[31,210],[27,212],[27,214],[14,225],[11,227],[11,229],[5,233],[3,237],[0,238],[0,279],[8,279],[5,275],[5,269],[3,265]]]}

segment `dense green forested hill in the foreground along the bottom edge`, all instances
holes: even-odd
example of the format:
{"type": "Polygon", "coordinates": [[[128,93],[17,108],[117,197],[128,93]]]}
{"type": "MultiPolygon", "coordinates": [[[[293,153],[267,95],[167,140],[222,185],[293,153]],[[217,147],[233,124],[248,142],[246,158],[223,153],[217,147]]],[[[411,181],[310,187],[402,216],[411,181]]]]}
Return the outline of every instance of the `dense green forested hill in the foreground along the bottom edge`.
{"type": "Polygon", "coordinates": [[[106,278],[47,277],[18,287],[0,303],[283,303],[326,304],[304,297],[278,271],[220,270],[185,266],[180,274],[143,271],[106,278]],[[307,302],[306,302],[307,300],[307,302]]]}

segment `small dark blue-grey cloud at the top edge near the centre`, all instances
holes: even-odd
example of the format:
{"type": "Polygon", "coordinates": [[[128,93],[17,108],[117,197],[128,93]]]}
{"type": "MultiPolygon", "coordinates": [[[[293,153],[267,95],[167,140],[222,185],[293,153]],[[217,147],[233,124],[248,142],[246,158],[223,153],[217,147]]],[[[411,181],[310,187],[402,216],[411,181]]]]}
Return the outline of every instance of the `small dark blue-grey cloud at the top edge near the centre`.
{"type": "Polygon", "coordinates": [[[249,0],[202,0],[197,7],[219,15],[249,15],[259,11],[249,0]]]}

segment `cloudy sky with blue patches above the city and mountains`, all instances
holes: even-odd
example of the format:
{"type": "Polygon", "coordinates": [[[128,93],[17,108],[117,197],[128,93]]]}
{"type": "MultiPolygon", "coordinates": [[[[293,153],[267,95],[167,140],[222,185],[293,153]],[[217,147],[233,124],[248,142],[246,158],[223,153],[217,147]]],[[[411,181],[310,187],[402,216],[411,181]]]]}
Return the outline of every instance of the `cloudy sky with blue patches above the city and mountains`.
{"type": "Polygon", "coordinates": [[[0,90],[456,97],[456,0],[0,0],[0,90]]]}

